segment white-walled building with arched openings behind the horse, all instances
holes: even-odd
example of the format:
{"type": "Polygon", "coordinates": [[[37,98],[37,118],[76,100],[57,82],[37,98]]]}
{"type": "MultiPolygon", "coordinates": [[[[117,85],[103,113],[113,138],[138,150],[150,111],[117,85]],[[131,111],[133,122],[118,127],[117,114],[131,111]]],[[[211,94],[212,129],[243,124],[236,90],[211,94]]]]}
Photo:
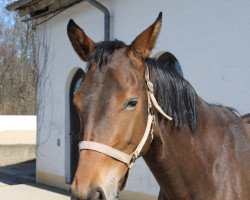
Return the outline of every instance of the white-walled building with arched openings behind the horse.
{"type": "MultiPolygon", "coordinates": [[[[74,134],[78,130],[71,99],[81,75],[79,69],[86,66],[71,47],[67,23],[72,18],[94,41],[104,39],[104,15],[89,2],[19,0],[8,6],[24,19],[29,14],[38,18],[34,23],[42,23],[36,26],[39,42],[46,39],[49,44],[47,62],[42,59],[44,46],[40,53],[40,66],[46,66],[41,71],[47,75],[38,96],[42,109],[38,115],[36,172],[38,182],[58,187],[67,187],[74,171],[74,134]]],[[[111,15],[111,39],[128,44],[162,11],[163,26],[152,55],[160,51],[174,54],[185,78],[206,101],[234,107],[241,114],[250,112],[249,0],[99,2],[111,15]]],[[[137,161],[126,189],[157,195],[157,183],[142,159],[137,161]]]]}

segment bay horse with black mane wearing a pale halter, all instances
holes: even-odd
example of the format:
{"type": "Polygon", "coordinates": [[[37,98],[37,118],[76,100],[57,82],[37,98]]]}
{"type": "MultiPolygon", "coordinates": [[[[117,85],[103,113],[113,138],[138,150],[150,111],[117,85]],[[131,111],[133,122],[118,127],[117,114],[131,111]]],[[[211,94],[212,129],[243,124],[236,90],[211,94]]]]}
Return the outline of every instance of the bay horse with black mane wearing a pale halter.
{"type": "Polygon", "coordinates": [[[160,186],[159,200],[250,199],[249,124],[149,58],[161,24],[160,13],[126,45],[95,43],[69,21],[72,46],[87,62],[73,99],[82,141],[72,200],[117,199],[139,156],[160,186]]]}

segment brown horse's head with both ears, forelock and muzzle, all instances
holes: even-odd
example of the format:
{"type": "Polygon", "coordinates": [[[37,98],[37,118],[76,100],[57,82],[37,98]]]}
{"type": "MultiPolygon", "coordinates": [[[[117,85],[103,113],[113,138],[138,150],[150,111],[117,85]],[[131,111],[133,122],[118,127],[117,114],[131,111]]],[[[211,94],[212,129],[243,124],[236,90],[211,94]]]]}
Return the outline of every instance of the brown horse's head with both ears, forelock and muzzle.
{"type": "Polygon", "coordinates": [[[72,46],[88,66],[73,99],[83,143],[71,186],[72,199],[117,199],[134,160],[126,163],[112,155],[117,151],[118,157],[122,153],[131,155],[139,145],[138,157],[149,148],[151,137],[143,134],[151,126],[145,59],[155,45],[161,19],[160,13],[130,45],[121,41],[95,43],[73,20],[68,23],[72,46]],[[106,153],[100,150],[102,147],[106,153]]]}

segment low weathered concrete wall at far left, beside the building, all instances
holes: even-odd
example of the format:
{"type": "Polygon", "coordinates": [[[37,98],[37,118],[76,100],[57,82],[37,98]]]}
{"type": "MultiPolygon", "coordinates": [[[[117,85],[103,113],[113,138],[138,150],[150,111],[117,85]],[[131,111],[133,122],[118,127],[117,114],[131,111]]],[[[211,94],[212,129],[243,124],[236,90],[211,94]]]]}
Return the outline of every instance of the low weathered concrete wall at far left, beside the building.
{"type": "Polygon", "coordinates": [[[35,158],[36,146],[34,144],[0,145],[0,167],[35,158]]]}

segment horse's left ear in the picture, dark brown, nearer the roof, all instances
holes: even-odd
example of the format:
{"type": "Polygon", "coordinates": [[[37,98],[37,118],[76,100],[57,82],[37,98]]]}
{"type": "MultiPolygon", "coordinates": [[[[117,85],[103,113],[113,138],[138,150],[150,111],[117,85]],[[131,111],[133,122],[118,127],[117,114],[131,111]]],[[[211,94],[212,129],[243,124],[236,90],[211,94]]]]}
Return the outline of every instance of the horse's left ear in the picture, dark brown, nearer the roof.
{"type": "Polygon", "coordinates": [[[67,32],[76,53],[86,62],[95,47],[95,43],[72,19],[69,20],[67,32]]]}

